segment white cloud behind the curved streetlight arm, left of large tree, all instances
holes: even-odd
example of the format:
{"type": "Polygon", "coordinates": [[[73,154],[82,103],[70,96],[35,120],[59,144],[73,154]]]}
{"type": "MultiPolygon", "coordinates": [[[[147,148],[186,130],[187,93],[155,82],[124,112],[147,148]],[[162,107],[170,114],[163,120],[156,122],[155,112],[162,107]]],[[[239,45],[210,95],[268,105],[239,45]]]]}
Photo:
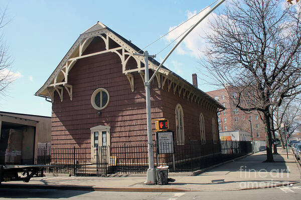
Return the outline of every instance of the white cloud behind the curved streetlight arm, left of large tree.
{"type": "MultiPolygon", "coordinates": [[[[191,26],[193,26],[198,20],[200,20],[201,17],[205,15],[205,13],[210,9],[210,7],[207,7],[204,9],[201,13],[196,15],[197,11],[187,11],[187,18],[191,18],[194,16],[192,19],[189,21],[185,22],[182,24],[180,27],[177,29],[173,30],[170,32],[167,36],[166,39],[168,42],[173,41],[176,39],[180,34],[185,32],[187,29],[189,29],[191,26]]],[[[206,33],[211,32],[211,28],[208,24],[209,20],[213,19],[214,16],[216,16],[216,13],[211,13],[209,14],[202,22],[200,22],[195,29],[193,29],[187,37],[182,41],[182,43],[177,47],[176,51],[178,54],[188,54],[191,56],[198,57],[202,50],[205,47],[206,44],[206,39],[204,38],[206,36],[206,33]]],[[[169,30],[172,30],[176,26],[170,27],[169,30]]],[[[184,34],[183,34],[184,35],[184,34]]],[[[182,35],[182,36],[183,36],[182,35]]],[[[182,38],[180,36],[180,39],[182,38]]],[[[177,40],[180,40],[179,38],[177,40]]]]}

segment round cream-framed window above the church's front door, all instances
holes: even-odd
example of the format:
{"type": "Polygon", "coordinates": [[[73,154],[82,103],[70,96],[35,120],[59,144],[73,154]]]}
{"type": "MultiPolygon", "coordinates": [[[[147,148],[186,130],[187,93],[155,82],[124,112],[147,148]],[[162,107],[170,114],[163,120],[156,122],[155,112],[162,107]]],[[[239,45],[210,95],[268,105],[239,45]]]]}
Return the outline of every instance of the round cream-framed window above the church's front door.
{"type": "Polygon", "coordinates": [[[96,89],[91,96],[91,104],[95,109],[103,109],[109,103],[109,92],[105,88],[96,89]]]}

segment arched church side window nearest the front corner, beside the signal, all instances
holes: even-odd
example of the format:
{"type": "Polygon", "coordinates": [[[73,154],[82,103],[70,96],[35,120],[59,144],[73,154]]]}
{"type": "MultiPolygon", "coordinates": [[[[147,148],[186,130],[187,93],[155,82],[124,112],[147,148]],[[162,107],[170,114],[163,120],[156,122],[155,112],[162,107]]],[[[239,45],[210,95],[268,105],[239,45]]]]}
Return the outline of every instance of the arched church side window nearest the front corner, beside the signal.
{"type": "Polygon", "coordinates": [[[182,106],[179,103],[176,105],[176,133],[178,144],[184,144],[184,114],[182,106]]]}

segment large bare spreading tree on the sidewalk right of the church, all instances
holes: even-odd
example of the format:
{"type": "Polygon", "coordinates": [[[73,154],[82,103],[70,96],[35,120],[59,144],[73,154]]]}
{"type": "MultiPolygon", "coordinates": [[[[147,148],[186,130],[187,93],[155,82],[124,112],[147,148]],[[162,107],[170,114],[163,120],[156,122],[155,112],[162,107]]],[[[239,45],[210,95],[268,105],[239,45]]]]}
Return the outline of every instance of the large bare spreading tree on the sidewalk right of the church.
{"type": "Polygon", "coordinates": [[[271,106],[301,92],[300,19],[300,3],[233,0],[210,22],[206,58],[200,61],[213,83],[237,92],[237,108],[260,114],[266,161],[273,161],[271,106]]]}

